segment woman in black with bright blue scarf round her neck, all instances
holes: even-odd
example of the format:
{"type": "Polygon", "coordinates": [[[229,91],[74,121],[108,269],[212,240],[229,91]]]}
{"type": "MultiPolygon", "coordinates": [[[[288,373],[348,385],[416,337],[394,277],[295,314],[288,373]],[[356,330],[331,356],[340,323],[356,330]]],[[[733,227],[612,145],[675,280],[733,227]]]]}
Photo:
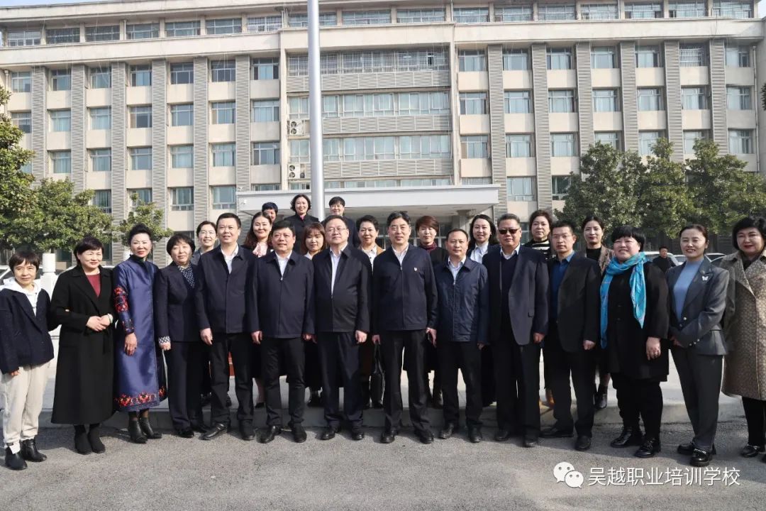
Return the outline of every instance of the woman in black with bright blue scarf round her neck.
{"type": "Polygon", "coordinates": [[[643,254],[646,238],[640,229],[624,225],[611,239],[614,258],[601,283],[601,347],[623,418],[611,446],[640,446],[637,457],[653,457],[660,452],[660,382],[668,375],[668,287],[662,270],[643,254]]]}

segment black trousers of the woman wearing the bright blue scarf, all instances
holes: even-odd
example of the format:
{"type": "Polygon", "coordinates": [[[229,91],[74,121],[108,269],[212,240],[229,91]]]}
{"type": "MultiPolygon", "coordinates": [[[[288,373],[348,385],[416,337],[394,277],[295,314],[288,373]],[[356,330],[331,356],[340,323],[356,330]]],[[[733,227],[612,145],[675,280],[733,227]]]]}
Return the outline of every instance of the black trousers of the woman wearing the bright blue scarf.
{"type": "Polygon", "coordinates": [[[613,372],[612,382],[617,389],[617,406],[620,407],[623,425],[637,431],[639,418],[643,418],[645,437],[659,438],[663,418],[660,382],[637,380],[622,372],[613,372]]]}

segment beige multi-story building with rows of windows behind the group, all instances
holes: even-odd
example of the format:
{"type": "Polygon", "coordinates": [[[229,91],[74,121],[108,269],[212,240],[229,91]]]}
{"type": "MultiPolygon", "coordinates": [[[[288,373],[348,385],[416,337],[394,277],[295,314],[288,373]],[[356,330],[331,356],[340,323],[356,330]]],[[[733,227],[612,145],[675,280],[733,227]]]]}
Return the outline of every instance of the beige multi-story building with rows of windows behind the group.
{"type": "MultiPolygon", "coordinates": [[[[763,170],[753,2],[320,11],[326,197],[349,215],[406,209],[450,227],[561,208],[596,141],[647,154],[667,137],[683,159],[710,138],[763,170]]],[[[96,190],[118,218],[133,194],[154,201],[177,231],[264,201],[286,210],[310,182],[306,18],[293,0],[0,8],[0,84],[28,171],[96,190]]]]}

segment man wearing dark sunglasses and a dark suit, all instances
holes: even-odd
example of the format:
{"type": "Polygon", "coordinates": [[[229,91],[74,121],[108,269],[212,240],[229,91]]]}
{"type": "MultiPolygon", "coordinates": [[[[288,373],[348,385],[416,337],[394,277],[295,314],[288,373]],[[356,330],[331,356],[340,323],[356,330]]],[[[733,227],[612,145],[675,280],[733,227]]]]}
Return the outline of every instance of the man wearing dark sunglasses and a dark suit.
{"type": "Polygon", "coordinates": [[[535,447],[540,434],[540,342],[548,332],[548,267],[545,255],[522,247],[519,217],[497,221],[499,251],[483,259],[489,291],[489,344],[495,365],[496,441],[524,435],[535,447]],[[518,388],[518,392],[517,392],[518,388]]]}

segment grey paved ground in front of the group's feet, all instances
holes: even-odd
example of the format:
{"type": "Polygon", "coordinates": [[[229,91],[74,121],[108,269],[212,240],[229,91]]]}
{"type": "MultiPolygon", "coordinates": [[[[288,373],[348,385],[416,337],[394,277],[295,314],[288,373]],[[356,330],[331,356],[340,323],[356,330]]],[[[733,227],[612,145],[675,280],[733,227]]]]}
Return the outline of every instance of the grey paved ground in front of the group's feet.
{"type": "MultiPolygon", "coordinates": [[[[719,426],[719,456],[713,467],[738,469],[738,484],[713,486],[603,486],[592,468],[678,469],[686,483],[686,460],[675,446],[689,437],[686,424],[664,424],[664,450],[639,460],[632,451],[614,450],[614,425],[597,426],[594,448],[577,453],[570,440],[543,441],[535,449],[517,442],[470,444],[463,437],[425,446],[405,431],[394,444],[377,441],[369,428],[364,441],[348,437],[322,442],[309,430],[306,444],[286,435],[264,446],[234,434],[212,442],[165,434],[139,446],[126,431],[108,429],[106,454],[80,456],[67,428],[41,431],[39,445],[49,459],[21,473],[0,468],[0,509],[758,509],[766,492],[766,464],[744,460],[744,421],[719,426]],[[553,469],[568,461],[584,474],[581,488],[556,483],[553,469]]],[[[492,430],[486,431],[489,437],[492,430]]],[[[712,475],[711,475],[712,474],[712,475]]],[[[664,479],[664,478],[663,478],[664,479]]],[[[602,480],[603,482],[603,480],[602,480]]]]}

